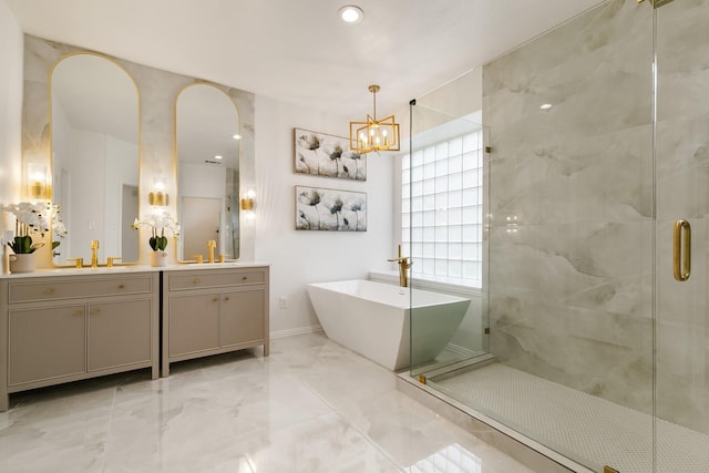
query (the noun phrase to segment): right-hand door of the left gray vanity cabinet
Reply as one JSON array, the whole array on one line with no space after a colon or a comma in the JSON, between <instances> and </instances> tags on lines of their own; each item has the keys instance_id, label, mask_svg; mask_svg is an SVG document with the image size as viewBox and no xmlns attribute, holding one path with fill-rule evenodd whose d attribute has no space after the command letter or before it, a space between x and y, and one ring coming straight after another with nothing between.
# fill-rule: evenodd
<instances>
[{"instance_id":1,"label":"right-hand door of the left gray vanity cabinet","mask_svg":"<svg viewBox=\"0 0 709 473\"><path fill-rule=\"evenodd\" d=\"M151 300L89 305L89 371L151 361Z\"/></svg>"}]
</instances>

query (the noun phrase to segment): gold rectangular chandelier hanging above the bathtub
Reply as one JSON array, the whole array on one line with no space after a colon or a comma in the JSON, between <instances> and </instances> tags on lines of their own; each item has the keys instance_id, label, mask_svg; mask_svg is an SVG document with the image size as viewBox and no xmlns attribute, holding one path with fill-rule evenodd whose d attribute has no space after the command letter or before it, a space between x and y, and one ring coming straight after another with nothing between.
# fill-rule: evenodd
<instances>
[{"instance_id":1,"label":"gold rectangular chandelier hanging above the bathtub","mask_svg":"<svg viewBox=\"0 0 709 473\"><path fill-rule=\"evenodd\" d=\"M374 112L366 122L350 122L350 150L359 154L380 151L399 151L399 124L394 115L377 120L377 92L379 85L370 85Z\"/></svg>"}]
</instances>

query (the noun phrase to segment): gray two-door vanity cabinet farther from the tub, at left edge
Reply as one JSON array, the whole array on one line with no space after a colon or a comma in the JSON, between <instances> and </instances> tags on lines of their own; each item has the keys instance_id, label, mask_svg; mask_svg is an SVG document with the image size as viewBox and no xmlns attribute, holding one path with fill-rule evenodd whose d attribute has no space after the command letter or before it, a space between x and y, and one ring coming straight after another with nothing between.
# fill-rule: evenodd
<instances>
[{"instance_id":1,"label":"gray two-door vanity cabinet farther from the tub, at left edge","mask_svg":"<svg viewBox=\"0 0 709 473\"><path fill-rule=\"evenodd\" d=\"M156 379L158 285L133 270L1 278L0 411L28 389L140 368Z\"/></svg>"}]
</instances>

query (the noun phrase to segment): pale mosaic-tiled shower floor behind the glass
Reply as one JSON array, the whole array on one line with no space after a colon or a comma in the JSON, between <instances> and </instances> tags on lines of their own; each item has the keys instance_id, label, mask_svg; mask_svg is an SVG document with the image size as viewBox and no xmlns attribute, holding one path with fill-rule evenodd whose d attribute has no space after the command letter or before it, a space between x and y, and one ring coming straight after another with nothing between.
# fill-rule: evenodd
<instances>
[{"instance_id":1,"label":"pale mosaic-tiled shower floor behind the glass","mask_svg":"<svg viewBox=\"0 0 709 473\"><path fill-rule=\"evenodd\" d=\"M653 471L653 418L501 363L429 385L557 452L603 471ZM657 472L709 472L709 435L658 420Z\"/></svg>"}]
</instances>

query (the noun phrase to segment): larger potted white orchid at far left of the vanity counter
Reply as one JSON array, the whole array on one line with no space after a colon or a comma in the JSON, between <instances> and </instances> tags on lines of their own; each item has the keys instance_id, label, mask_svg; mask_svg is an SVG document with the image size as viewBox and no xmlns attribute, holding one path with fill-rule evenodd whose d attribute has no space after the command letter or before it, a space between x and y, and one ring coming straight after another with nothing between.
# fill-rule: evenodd
<instances>
[{"instance_id":1,"label":"larger potted white orchid at far left of the vanity counter","mask_svg":"<svg viewBox=\"0 0 709 473\"><path fill-rule=\"evenodd\" d=\"M14 253L10 256L10 271L31 273L34 270L34 251L44 246L44 241L34 241L32 235L44 238L50 229L56 237L66 235L59 206L51 202L21 202L6 205L3 209L14 215L14 237L8 241ZM52 249L59 244L59 238L54 238Z\"/></svg>"}]
</instances>

